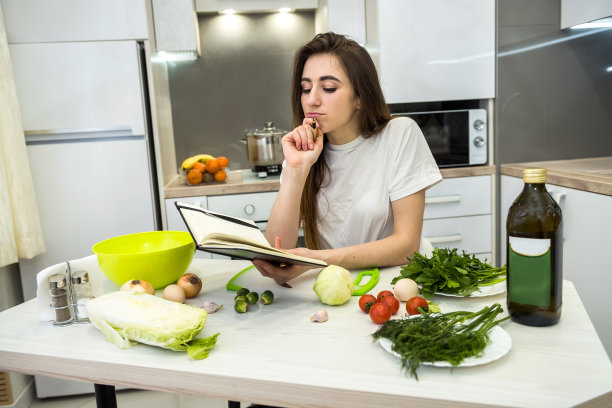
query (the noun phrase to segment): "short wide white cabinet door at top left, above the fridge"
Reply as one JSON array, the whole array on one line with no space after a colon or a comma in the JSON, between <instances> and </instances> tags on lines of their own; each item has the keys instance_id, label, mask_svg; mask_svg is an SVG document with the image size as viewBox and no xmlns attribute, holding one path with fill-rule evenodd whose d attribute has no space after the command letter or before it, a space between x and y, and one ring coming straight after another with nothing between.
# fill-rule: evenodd
<instances>
[{"instance_id":1,"label":"short wide white cabinet door at top left, above the fridge","mask_svg":"<svg viewBox=\"0 0 612 408\"><path fill-rule=\"evenodd\" d=\"M145 0L2 0L9 44L148 38Z\"/></svg>"}]
</instances>

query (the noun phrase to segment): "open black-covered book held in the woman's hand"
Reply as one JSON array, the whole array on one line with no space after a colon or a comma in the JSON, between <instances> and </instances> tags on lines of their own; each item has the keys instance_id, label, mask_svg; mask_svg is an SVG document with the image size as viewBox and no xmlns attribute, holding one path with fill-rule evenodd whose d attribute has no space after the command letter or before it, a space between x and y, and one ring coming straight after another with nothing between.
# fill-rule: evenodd
<instances>
[{"instance_id":1,"label":"open black-covered book held in the woman's hand","mask_svg":"<svg viewBox=\"0 0 612 408\"><path fill-rule=\"evenodd\" d=\"M240 259L261 259L276 264L327 266L324 261L273 248L251 220L219 214L185 203L174 204L185 221L196 248L201 251Z\"/></svg>"}]
</instances>

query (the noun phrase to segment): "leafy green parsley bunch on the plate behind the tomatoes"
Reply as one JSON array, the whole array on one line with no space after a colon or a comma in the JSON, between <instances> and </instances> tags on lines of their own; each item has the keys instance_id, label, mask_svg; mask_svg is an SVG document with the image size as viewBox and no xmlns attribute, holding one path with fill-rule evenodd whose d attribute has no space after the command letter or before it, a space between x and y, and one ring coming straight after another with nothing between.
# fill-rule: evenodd
<instances>
[{"instance_id":1,"label":"leafy green parsley bunch on the plate behind the tomatoes","mask_svg":"<svg viewBox=\"0 0 612 408\"><path fill-rule=\"evenodd\" d=\"M431 258L415 252L402 266L401 275L393 278L392 284L402 278L414 280L419 293L430 298L436 292L469 296L479 291L480 286L493 285L506 279L506 266L495 268L474 255L457 253L457 249L434 248Z\"/></svg>"}]
</instances>

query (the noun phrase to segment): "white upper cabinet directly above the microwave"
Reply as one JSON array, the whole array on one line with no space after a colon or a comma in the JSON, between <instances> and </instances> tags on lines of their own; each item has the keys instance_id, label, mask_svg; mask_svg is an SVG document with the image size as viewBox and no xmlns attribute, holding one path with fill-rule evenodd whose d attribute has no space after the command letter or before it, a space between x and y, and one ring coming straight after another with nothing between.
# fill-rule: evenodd
<instances>
[{"instance_id":1,"label":"white upper cabinet directly above the microwave","mask_svg":"<svg viewBox=\"0 0 612 408\"><path fill-rule=\"evenodd\" d=\"M366 2L387 103L495 97L494 0Z\"/></svg>"}]
</instances>

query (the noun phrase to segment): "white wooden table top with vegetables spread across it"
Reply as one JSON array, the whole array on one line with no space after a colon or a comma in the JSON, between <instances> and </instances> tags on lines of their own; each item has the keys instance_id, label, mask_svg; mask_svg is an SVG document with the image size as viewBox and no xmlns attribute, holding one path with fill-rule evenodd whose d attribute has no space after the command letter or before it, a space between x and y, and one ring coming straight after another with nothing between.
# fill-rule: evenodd
<instances>
[{"instance_id":1,"label":"white wooden table top with vegetables spread across it","mask_svg":"<svg viewBox=\"0 0 612 408\"><path fill-rule=\"evenodd\" d=\"M203 329L205 336L221 333L205 360L140 344L122 350L90 324L54 327L39 321L32 300L0 313L0 370L287 407L612 406L612 364L571 282L564 282L559 324L503 322L513 341L506 356L454 370L423 366L416 381L372 343L378 326L359 309L358 297L342 306L319 302L312 291L316 270L292 281L292 289L246 272L235 283L259 293L271 289L275 301L236 313L235 292L225 284L248 265L196 259L189 269L204 281L198 299L225 305ZM375 292L390 289L398 271L381 270ZM505 294L433 300L443 312L494 302L505 308ZM310 322L322 308L329 321Z\"/></svg>"}]
</instances>

